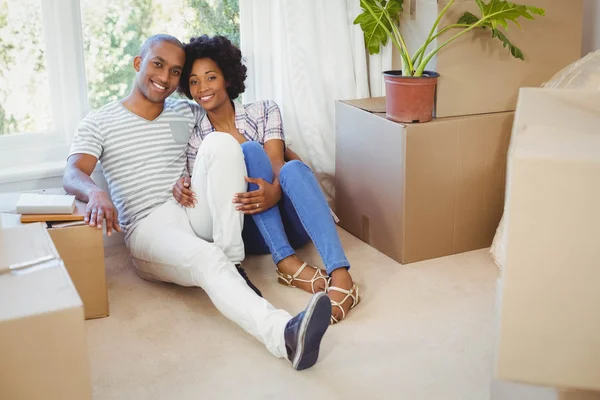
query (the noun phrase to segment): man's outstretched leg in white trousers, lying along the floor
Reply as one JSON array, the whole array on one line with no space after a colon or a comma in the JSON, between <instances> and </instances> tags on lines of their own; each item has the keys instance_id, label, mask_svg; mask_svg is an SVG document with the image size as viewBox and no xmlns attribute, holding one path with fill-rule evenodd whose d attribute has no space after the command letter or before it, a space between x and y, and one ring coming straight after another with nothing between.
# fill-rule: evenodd
<instances>
[{"instance_id":1,"label":"man's outstretched leg in white trousers, lying along the floor","mask_svg":"<svg viewBox=\"0 0 600 400\"><path fill-rule=\"evenodd\" d=\"M197 237L174 202L142 220L127 245L142 277L203 288L225 317L276 357L286 356L283 333L291 315L258 297L220 248Z\"/></svg>"}]
</instances>

